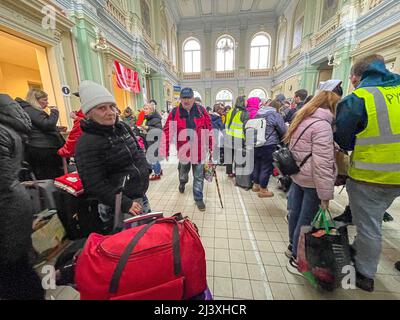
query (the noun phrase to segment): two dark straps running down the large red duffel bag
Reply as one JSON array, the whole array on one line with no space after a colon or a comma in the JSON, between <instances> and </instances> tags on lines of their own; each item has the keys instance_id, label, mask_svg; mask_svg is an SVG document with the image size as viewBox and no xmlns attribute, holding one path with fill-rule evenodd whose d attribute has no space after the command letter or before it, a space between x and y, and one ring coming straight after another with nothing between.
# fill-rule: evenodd
<instances>
[{"instance_id":1,"label":"two dark straps running down the large red duffel bag","mask_svg":"<svg viewBox=\"0 0 400 320\"><path fill-rule=\"evenodd\" d=\"M131 242L125 248L121 258L118 261L118 264L114 270L113 276L111 278L109 293L115 294L119 288L119 282L121 280L122 272L125 269L125 266L129 260L129 256L134 251L135 246L138 244L140 239L145 235L145 233L156 223L159 223L157 220L149 223L145 227L143 227L131 240ZM173 240L172 240L172 250L173 250L173 258L174 258L174 273L176 276L179 276L182 273L182 259L180 253L180 236L178 223L174 219L174 227L173 227Z\"/></svg>"}]
</instances>

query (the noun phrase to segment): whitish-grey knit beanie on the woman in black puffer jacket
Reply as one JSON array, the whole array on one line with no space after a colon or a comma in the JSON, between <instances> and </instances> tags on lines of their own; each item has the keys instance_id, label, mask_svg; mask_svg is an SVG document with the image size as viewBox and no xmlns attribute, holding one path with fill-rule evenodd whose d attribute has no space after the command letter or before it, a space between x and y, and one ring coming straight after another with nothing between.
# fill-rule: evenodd
<instances>
[{"instance_id":1,"label":"whitish-grey knit beanie on the woman in black puffer jacket","mask_svg":"<svg viewBox=\"0 0 400 320\"><path fill-rule=\"evenodd\" d=\"M117 104L110 91L93 81L83 81L79 85L79 96L84 114L103 103Z\"/></svg>"}]
</instances>

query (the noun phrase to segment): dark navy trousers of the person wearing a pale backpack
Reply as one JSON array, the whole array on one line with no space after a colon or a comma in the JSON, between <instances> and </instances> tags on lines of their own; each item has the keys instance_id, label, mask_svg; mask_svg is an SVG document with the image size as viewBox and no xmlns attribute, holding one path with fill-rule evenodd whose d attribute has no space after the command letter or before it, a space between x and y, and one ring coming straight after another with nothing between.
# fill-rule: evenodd
<instances>
[{"instance_id":1,"label":"dark navy trousers of the person wearing a pale backpack","mask_svg":"<svg viewBox=\"0 0 400 320\"><path fill-rule=\"evenodd\" d=\"M276 151L276 145L263 146L254 150L253 180L261 188L268 187L269 178L274 170L272 153Z\"/></svg>"}]
</instances>

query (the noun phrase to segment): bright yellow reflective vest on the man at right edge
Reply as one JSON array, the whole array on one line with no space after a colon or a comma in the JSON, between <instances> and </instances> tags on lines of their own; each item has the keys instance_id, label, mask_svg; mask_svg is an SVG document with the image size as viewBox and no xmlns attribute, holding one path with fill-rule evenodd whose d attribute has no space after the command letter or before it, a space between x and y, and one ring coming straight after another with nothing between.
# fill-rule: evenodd
<instances>
[{"instance_id":1,"label":"bright yellow reflective vest on the man at right edge","mask_svg":"<svg viewBox=\"0 0 400 320\"><path fill-rule=\"evenodd\" d=\"M354 180L400 186L400 86L360 88L368 124L356 136L349 176Z\"/></svg>"}]
</instances>

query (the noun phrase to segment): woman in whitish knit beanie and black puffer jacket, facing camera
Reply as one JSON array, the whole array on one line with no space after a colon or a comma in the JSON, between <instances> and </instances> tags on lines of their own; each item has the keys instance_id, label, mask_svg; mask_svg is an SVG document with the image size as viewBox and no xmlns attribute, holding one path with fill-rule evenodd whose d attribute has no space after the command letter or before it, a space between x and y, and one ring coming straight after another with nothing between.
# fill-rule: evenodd
<instances>
[{"instance_id":1,"label":"woman in whitish knit beanie and black puffer jacket, facing camera","mask_svg":"<svg viewBox=\"0 0 400 320\"><path fill-rule=\"evenodd\" d=\"M151 168L131 128L119 121L114 97L92 81L82 82L79 94L86 119L81 121L83 134L76 148L76 164L86 194L103 205L103 222L112 223L115 195L128 176L122 212L149 212L146 192Z\"/></svg>"}]
</instances>

